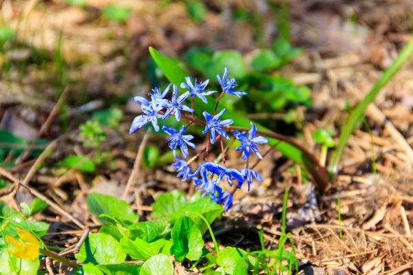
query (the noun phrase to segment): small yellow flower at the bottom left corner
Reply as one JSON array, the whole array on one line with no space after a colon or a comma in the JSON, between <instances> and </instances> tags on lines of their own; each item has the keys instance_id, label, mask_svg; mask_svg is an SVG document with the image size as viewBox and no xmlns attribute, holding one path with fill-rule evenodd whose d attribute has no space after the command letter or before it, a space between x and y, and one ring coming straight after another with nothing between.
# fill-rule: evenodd
<instances>
[{"instance_id":1,"label":"small yellow flower at the bottom left corner","mask_svg":"<svg viewBox=\"0 0 413 275\"><path fill-rule=\"evenodd\" d=\"M36 236L19 228L17 228L17 234L20 238L19 242L12 236L6 236L6 240L14 248L14 251L8 249L8 252L20 259L31 259L32 261L36 260L39 256L40 248L39 241L37 241Z\"/></svg>"}]
</instances>

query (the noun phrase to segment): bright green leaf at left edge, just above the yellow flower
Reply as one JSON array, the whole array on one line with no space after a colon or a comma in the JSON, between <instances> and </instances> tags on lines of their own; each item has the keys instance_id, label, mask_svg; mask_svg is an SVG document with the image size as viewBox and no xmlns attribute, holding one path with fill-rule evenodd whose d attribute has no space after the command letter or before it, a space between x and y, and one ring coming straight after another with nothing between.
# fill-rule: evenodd
<instances>
[{"instance_id":1,"label":"bright green leaf at left edge, just above the yellow flower","mask_svg":"<svg viewBox=\"0 0 413 275\"><path fill-rule=\"evenodd\" d=\"M49 225L42 221L28 221L17 210L8 206L4 201L0 201L0 224L5 235L17 236L17 228L32 232L39 238L44 236L49 229Z\"/></svg>"}]
</instances>

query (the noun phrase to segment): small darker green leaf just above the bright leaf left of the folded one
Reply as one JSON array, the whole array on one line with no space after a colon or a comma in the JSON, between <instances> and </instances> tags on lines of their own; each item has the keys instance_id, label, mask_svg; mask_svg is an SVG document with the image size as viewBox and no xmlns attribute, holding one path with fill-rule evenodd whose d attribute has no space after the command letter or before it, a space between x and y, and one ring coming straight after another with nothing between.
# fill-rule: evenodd
<instances>
[{"instance_id":1,"label":"small darker green leaf just above the bright leaf left of the folded one","mask_svg":"<svg viewBox=\"0 0 413 275\"><path fill-rule=\"evenodd\" d=\"M171 224L170 219L156 219L153 221L143 221L129 226L131 234L144 241L153 241L165 232Z\"/></svg>"}]
</instances>

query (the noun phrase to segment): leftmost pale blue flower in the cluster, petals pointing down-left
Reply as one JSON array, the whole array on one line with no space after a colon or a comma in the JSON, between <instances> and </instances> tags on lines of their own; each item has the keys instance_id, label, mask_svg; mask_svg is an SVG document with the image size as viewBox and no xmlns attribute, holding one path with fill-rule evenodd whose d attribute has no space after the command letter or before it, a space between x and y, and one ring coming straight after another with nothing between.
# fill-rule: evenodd
<instances>
[{"instance_id":1,"label":"leftmost pale blue flower in the cluster, petals pointing down-left","mask_svg":"<svg viewBox=\"0 0 413 275\"><path fill-rule=\"evenodd\" d=\"M139 102L138 102L139 103ZM129 133L135 133L140 128L145 126L148 122L151 122L153 125L153 129L155 131L159 131L158 126L158 118L162 118L158 112L163 109L162 105L158 105L156 101L152 100L151 102L145 102L143 100L140 104L142 108L142 115L138 115L131 124L131 128L129 129Z\"/></svg>"}]
</instances>

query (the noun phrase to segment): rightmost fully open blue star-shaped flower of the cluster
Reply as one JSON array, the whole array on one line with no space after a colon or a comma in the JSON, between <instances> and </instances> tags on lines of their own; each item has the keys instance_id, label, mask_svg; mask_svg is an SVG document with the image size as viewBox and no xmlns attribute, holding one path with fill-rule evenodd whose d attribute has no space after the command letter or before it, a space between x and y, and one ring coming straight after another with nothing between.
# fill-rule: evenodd
<instances>
[{"instance_id":1,"label":"rightmost fully open blue star-shaped flower of the cluster","mask_svg":"<svg viewBox=\"0 0 413 275\"><path fill-rule=\"evenodd\" d=\"M234 135L237 140L240 140L241 145L239 148L236 148L238 152L242 151L242 159L246 159L251 155L251 150L257 154L260 159L262 159L262 155L258 151L257 145L255 144L264 144L267 143L268 140L265 137L258 136L255 137L255 133L257 133L257 127L251 122L251 130L248 131L248 137L246 137L245 133L241 133L239 131L235 131Z\"/></svg>"}]
</instances>

